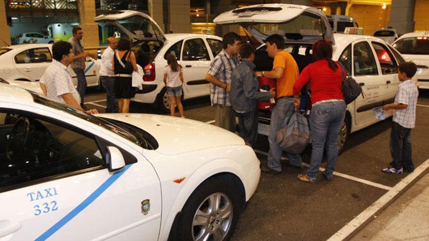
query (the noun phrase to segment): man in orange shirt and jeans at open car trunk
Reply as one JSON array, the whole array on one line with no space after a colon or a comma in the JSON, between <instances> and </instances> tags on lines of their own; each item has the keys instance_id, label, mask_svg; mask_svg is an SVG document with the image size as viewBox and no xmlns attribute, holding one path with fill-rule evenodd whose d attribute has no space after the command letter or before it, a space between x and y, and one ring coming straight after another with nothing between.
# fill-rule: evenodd
<instances>
[{"instance_id":1,"label":"man in orange shirt and jeans at open car trunk","mask_svg":"<svg viewBox=\"0 0 429 241\"><path fill-rule=\"evenodd\" d=\"M280 35L271 35L265 40L268 56L274 58L273 70L256 72L257 76L265 76L277 79L276 103L271 112L270 132L268 141L270 151L268 153L268 167L262 166L261 171L265 173L280 174L282 149L277 144L277 132L284 128L294 111L293 84L298 79L299 70L295 59L287 51L285 40ZM289 164L301 168L301 156L288 153Z\"/></svg>"}]
</instances>

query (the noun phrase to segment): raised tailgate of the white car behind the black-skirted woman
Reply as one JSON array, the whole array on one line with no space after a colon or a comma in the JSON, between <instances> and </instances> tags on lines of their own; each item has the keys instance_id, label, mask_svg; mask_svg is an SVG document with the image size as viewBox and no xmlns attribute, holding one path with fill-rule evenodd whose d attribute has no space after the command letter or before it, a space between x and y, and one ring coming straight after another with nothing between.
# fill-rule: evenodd
<instances>
[{"instance_id":1,"label":"raised tailgate of the white car behind the black-skirted woman","mask_svg":"<svg viewBox=\"0 0 429 241\"><path fill-rule=\"evenodd\" d=\"M131 10L113 11L94 18L101 27L112 24L136 40L165 40L158 24L147 14Z\"/></svg>"}]
</instances>

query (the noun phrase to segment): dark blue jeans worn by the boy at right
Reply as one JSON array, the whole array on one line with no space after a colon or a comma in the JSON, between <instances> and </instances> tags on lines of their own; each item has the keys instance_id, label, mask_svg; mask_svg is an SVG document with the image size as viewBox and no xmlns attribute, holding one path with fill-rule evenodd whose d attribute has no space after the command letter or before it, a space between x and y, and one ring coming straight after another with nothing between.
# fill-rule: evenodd
<instances>
[{"instance_id":1,"label":"dark blue jeans worn by the boy at right","mask_svg":"<svg viewBox=\"0 0 429 241\"><path fill-rule=\"evenodd\" d=\"M405 171L413 171L414 164L411 158L411 129L392 122L390 132L390 166L396 169L404 167Z\"/></svg>"}]
</instances>

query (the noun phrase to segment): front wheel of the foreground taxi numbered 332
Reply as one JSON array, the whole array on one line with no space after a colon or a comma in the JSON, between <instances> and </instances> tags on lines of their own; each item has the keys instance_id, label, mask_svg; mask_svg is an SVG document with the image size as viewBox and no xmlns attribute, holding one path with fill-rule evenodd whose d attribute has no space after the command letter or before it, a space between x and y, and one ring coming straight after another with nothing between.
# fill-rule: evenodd
<instances>
[{"instance_id":1,"label":"front wheel of the foreground taxi numbered 332","mask_svg":"<svg viewBox=\"0 0 429 241\"><path fill-rule=\"evenodd\" d=\"M210 178L195 189L182 209L176 240L227 241L231 238L243 199L237 192L240 184L228 176Z\"/></svg>"}]
</instances>

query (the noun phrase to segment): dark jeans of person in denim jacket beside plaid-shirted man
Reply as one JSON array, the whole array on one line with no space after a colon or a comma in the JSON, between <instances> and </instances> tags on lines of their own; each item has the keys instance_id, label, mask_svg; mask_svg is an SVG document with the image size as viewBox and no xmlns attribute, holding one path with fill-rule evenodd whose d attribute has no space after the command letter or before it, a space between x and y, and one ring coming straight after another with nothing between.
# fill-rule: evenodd
<instances>
[{"instance_id":1,"label":"dark jeans of person in denim jacket beside plaid-shirted man","mask_svg":"<svg viewBox=\"0 0 429 241\"><path fill-rule=\"evenodd\" d=\"M236 116L238 117L238 135L252 148L255 148L258 138L258 112L256 110L244 113L237 112Z\"/></svg>"}]
</instances>

